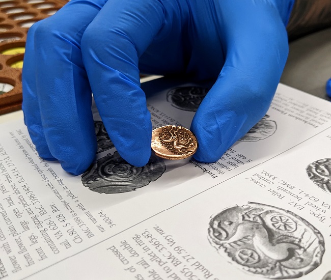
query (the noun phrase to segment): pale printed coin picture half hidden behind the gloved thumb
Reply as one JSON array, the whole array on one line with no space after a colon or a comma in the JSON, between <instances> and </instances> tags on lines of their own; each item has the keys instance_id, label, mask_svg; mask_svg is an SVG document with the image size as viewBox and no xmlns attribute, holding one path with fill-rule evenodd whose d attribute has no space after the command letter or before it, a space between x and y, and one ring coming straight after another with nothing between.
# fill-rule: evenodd
<instances>
[{"instance_id":1,"label":"pale printed coin picture half hidden behind the gloved thumb","mask_svg":"<svg viewBox=\"0 0 331 280\"><path fill-rule=\"evenodd\" d=\"M241 139L242 142L256 142L271 136L277 130L275 121L268 120L269 116L265 115L249 132Z\"/></svg>"}]
</instances>

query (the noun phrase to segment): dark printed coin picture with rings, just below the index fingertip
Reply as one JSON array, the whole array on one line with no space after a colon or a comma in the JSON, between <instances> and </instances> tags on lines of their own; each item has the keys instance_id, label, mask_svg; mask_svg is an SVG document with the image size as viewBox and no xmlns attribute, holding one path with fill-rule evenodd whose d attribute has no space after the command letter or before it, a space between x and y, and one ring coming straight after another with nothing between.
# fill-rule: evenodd
<instances>
[{"instance_id":1,"label":"dark printed coin picture with rings, just below the index fingertip","mask_svg":"<svg viewBox=\"0 0 331 280\"><path fill-rule=\"evenodd\" d=\"M81 176L81 182L99 193L120 193L136 190L157 180L166 171L163 160L152 155L143 167L127 163L117 151L100 158Z\"/></svg>"}]
</instances>

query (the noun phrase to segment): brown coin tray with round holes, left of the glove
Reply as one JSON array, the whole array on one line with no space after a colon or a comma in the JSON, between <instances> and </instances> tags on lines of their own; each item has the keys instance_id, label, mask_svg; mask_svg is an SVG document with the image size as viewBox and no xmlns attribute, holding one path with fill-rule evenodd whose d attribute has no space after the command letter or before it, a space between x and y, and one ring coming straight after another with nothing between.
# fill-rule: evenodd
<instances>
[{"instance_id":1,"label":"brown coin tray with round holes, left of the glove","mask_svg":"<svg viewBox=\"0 0 331 280\"><path fill-rule=\"evenodd\" d=\"M0 115L21 109L21 65L27 30L66 3L67 0L0 0Z\"/></svg>"}]
</instances>

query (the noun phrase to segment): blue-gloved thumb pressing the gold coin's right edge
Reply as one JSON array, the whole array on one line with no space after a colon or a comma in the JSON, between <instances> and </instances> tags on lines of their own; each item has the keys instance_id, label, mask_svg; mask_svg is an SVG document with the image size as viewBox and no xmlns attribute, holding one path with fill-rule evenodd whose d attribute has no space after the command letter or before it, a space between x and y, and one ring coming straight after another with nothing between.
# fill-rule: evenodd
<instances>
[{"instance_id":1,"label":"blue-gloved thumb pressing the gold coin's right edge","mask_svg":"<svg viewBox=\"0 0 331 280\"><path fill-rule=\"evenodd\" d=\"M265 115L288 54L284 23L270 1L225 0L217 9L226 61L191 124L201 162L218 160Z\"/></svg>"}]
</instances>

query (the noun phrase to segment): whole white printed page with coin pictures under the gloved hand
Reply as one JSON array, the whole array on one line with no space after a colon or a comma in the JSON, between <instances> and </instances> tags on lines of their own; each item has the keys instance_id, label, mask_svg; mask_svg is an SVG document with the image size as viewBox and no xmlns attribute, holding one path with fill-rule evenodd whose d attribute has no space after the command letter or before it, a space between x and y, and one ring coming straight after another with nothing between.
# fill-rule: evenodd
<instances>
[{"instance_id":1,"label":"whole white printed page with coin pictures under the gloved hand","mask_svg":"<svg viewBox=\"0 0 331 280\"><path fill-rule=\"evenodd\" d=\"M189 128L210 85L142 84L154 127ZM331 103L279 85L267 115L215 163L127 164L94 109L81 176L0 126L0 279L329 279Z\"/></svg>"}]
</instances>

